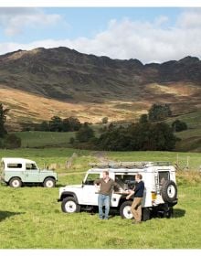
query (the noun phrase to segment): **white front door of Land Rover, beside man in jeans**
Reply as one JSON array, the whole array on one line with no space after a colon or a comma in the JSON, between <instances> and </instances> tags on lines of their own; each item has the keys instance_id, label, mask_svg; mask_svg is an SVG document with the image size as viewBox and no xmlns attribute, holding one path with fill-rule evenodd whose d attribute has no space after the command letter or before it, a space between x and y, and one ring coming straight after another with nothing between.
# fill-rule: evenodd
<instances>
[{"instance_id":1,"label":"white front door of Land Rover, beside man in jeans","mask_svg":"<svg viewBox=\"0 0 201 256\"><path fill-rule=\"evenodd\" d=\"M82 203L85 205L98 205L98 189L94 181L100 178L100 174L89 174L82 187Z\"/></svg>"}]
</instances>

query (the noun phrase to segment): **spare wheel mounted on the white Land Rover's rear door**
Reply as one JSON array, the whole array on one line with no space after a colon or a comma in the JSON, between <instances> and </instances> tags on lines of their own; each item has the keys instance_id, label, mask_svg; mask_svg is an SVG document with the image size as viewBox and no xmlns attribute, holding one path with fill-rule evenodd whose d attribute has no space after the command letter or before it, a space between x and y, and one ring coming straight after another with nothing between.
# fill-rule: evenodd
<instances>
[{"instance_id":1,"label":"spare wheel mounted on the white Land Rover's rear door","mask_svg":"<svg viewBox=\"0 0 201 256\"><path fill-rule=\"evenodd\" d=\"M177 197L177 187L173 180L166 180L161 188L161 195L165 203L172 203Z\"/></svg>"}]
</instances>

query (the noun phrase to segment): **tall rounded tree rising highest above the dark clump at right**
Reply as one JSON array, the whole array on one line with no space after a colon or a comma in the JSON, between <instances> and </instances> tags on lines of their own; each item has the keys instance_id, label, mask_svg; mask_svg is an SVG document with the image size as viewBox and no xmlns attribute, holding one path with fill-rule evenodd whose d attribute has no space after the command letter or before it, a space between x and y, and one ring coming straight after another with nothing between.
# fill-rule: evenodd
<instances>
[{"instance_id":1,"label":"tall rounded tree rising highest above the dark clump at right","mask_svg":"<svg viewBox=\"0 0 201 256\"><path fill-rule=\"evenodd\" d=\"M172 115L169 104L153 104L149 110L149 121L158 122L163 121L168 116Z\"/></svg>"}]
</instances>

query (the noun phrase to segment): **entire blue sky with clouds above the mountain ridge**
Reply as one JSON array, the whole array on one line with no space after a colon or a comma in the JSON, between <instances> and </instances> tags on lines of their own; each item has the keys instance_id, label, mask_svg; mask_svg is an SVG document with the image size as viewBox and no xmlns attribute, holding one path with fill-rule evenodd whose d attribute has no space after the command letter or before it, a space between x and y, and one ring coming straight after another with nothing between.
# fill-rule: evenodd
<instances>
[{"instance_id":1,"label":"entire blue sky with clouds above the mountain ridge","mask_svg":"<svg viewBox=\"0 0 201 256\"><path fill-rule=\"evenodd\" d=\"M0 7L0 55L74 48L111 59L201 59L201 7Z\"/></svg>"}]
</instances>

